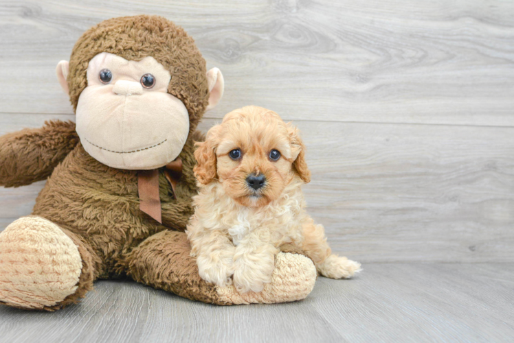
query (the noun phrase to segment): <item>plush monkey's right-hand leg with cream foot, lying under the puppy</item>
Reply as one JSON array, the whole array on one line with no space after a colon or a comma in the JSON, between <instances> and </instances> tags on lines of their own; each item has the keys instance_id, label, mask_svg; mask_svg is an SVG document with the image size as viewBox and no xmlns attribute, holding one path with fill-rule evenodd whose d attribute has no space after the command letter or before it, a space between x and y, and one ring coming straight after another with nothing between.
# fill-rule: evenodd
<instances>
[{"instance_id":1,"label":"plush monkey's right-hand leg with cream foot, lying under the puppy","mask_svg":"<svg viewBox=\"0 0 514 343\"><path fill-rule=\"evenodd\" d=\"M316 280L311 259L297 251L279 252L271 282L262 292L239 294L233 285L219 287L203 281L190 250L186 233L162 231L134 248L126 260L127 273L140 283L217 305L301 300L309 295Z\"/></svg>"}]
</instances>

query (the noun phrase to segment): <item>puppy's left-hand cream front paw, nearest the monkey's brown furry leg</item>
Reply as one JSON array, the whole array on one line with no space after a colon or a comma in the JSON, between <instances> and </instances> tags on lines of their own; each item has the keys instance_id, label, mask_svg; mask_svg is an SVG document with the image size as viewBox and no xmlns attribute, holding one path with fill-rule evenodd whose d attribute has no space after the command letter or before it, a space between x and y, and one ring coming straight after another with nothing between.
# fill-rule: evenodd
<instances>
[{"instance_id":1,"label":"puppy's left-hand cream front paw, nearest the monkey's brown furry leg","mask_svg":"<svg viewBox=\"0 0 514 343\"><path fill-rule=\"evenodd\" d=\"M198 274L203 280L220 287L232 285L230 276L234 274L234 259L231 255L217 258L199 256L197 265Z\"/></svg>"}]
</instances>

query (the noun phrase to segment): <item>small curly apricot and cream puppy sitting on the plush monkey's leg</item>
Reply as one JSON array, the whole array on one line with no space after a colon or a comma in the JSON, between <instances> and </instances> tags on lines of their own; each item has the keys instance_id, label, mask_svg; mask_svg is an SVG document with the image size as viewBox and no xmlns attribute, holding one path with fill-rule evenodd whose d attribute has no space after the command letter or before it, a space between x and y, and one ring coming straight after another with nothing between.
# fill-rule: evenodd
<instances>
[{"instance_id":1,"label":"small curly apricot and cream puppy sitting on the plush monkey's leg","mask_svg":"<svg viewBox=\"0 0 514 343\"><path fill-rule=\"evenodd\" d=\"M228 113L194 157L200 189L186 232L202 279L222 287L233 279L238 292L260 292L287 243L302 248L323 276L359 272L359 263L331 253L323 226L306 213L305 148L298 129L276 113L256 106Z\"/></svg>"}]
</instances>

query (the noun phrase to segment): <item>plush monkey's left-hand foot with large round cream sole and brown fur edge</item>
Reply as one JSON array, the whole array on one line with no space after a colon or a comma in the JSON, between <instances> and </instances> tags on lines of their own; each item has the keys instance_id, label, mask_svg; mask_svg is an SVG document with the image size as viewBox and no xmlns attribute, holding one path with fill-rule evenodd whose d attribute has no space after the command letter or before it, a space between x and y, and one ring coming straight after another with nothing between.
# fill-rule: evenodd
<instances>
[{"instance_id":1,"label":"plush monkey's left-hand foot with large round cream sole and brown fur edge","mask_svg":"<svg viewBox=\"0 0 514 343\"><path fill-rule=\"evenodd\" d=\"M0 233L0 303L55 311L93 286L98 257L89 244L42 217L22 217Z\"/></svg>"}]
</instances>

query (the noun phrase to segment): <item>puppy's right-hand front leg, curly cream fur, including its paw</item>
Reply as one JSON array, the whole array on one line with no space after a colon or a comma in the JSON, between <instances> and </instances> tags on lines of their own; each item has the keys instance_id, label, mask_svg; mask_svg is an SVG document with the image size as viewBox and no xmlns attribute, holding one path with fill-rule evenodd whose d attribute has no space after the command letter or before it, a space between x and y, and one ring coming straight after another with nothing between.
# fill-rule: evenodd
<instances>
[{"instance_id":1,"label":"puppy's right-hand front leg, curly cream fur, including its paw","mask_svg":"<svg viewBox=\"0 0 514 343\"><path fill-rule=\"evenodd\" d=\"M234 286L240 293L260 292L271 281L278 249L249 235L236 247Z\"/></svg>"}]
</instances>

